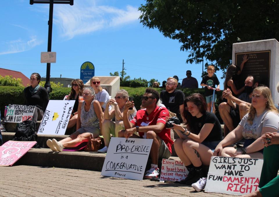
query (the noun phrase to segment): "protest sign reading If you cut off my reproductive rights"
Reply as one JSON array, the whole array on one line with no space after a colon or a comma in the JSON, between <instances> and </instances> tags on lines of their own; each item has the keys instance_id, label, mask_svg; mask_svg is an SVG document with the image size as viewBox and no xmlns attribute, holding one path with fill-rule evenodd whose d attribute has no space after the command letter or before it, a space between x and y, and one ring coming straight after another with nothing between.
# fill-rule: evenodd
<instances>
[{"instance_id":1,"label":"protest sign reading If you cut off my reproductive rights","mask_svg":"<svg viewBox=\"0 0 279 197\"><path fill-rule=\"evenodd\" d=\"M36 106L28 105L9 105L5 115L5 122L20 123L27 120L29 117L33 118Z\"/></svg>"}]
</instances>

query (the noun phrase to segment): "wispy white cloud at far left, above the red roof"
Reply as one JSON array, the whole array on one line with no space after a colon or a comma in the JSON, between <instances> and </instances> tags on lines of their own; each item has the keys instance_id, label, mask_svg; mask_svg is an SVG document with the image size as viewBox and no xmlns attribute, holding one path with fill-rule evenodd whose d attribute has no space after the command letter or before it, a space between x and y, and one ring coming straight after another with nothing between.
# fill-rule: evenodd
<instances>
[{"instance_id":1,"label":"wispy white cloud at far left, above the red roof","mask_svg":"<svg viewBox=\"0 0 279 197\"><path fill-rule=\"evenodd\" d=\"M28 51L41 43L42 41L37 40L36 36L31 36L30 40L11 40L4 43L3 48L6 48L7 50L0 51L0 55Z\"/></svg>"}]
</instances>

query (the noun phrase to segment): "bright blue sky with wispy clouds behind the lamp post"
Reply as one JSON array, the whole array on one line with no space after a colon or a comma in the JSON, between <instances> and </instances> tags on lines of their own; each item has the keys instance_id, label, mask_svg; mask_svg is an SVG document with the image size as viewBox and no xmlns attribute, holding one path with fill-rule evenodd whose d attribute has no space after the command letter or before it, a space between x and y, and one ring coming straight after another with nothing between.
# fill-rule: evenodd
<instances>
[{"instance_id":1,"label":"bright blue sky with wispy clouds behind the lamp post","mask_svg":"<svg viewBox=\"0 0 279 197\"><path fill-rule=\"evenodd\" d=\"M202 64L186 64L187 52L177 40L164 37L158 29L143 27L138 17L142 0L74 0L74 6L55 4L53 8L51 77L80 78L80 67L90 61L95 76L125 71L131 78L158 79L160 83L177 75L179 82L192 70L201 82ZM40 63L47 51L48 4L29 0L1 2L0 68L46 75ZM217 72L223 89L221 71Z\"/></svg>"}]
</instances>

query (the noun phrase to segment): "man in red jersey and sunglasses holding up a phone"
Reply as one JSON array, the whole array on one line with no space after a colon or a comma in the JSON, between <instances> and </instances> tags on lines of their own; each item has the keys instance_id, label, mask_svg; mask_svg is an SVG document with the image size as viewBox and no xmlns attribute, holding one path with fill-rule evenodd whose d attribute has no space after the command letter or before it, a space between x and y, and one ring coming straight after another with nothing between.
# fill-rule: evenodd
<instances>
[{"instance_id":1,"label":"man in red jersey and sunglasses holding up a phone","mask_svg":"<svg viewBox=\"0 0 279 197\"><path fill-rule=\"evenodd\" d=\"M144 177L158 177L158 159L168 159L171 156L171 145L174 143L170 137L170 129L165 128L166 117L169 111L158 107L159 93L153 88L147 88L142 96L142 110L137 111L133 120L128 120L128 109L134 106L133 102L127 102L123 111L123 123L125 130L119 131L118 137L153 139L149 156L151 157L151 169L146 171ZM139 132L140 136L135 135Z\"/></svg>"}]
</instances>

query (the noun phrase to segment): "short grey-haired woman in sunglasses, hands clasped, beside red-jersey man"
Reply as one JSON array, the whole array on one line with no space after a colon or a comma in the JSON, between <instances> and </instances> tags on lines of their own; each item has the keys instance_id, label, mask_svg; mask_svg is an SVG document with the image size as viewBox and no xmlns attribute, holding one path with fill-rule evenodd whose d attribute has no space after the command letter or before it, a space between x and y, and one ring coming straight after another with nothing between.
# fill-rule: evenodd
<instances>
[{"instance_id":1,"label":"short grey-haired woman in sunglasses, hands clasped, beside red-jersey man","mask_svg":"<svg viewBox=\"0 0 279 197\"><path fill-rule=\"evenodd\" d=\"M114 99L110 99L106 104L104 112L104 122L103 122L103 137L105 142L105 147L98 150L99 153L106 153L108 151L108 146L110 144L110 134L114 137L118 137L118 132L124 129L123 124L123 110L125 103L129 99L128 92L124 89L116 92ZM112 105L112 109L109 111L109 105ZM135 106L128 110L128 119L131 121L136 115L137 110ZM115 117L115 122L111 121Z\"/></svg>"}]
</instances>

